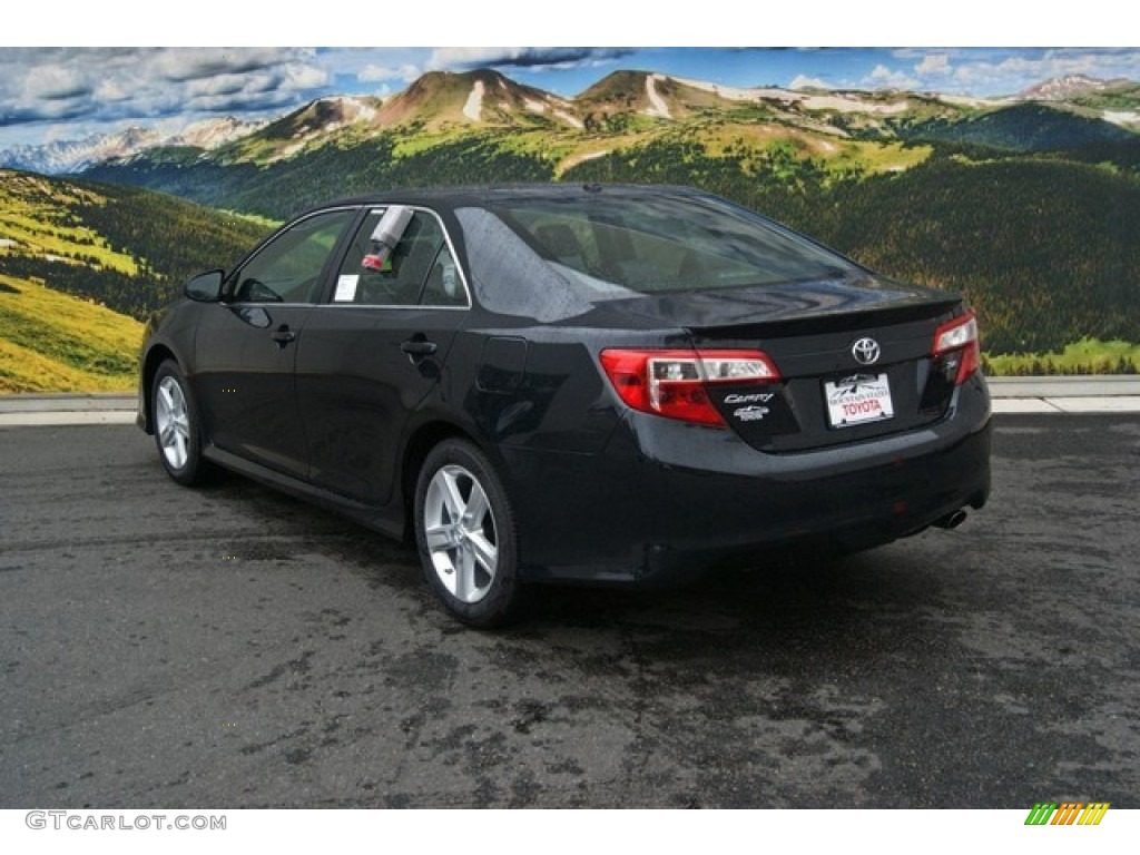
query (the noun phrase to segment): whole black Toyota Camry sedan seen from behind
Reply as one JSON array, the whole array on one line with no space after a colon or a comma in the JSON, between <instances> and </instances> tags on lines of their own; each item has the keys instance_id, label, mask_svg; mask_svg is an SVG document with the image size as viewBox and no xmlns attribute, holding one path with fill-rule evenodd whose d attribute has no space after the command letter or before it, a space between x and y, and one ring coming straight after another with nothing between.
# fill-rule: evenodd
<instances>
[{"instance_id":1,"label":"whole black Toyota Camry sedan seen from behind","mask_svg":"<svg viewBox=\"0 0 1140 855\"><path fill-rule=\"evenodd\" d=\"M990 491L958 295L684 188L392 192L187 283L139 424L414 538L477 626L528 583L662 584L953 527Z\"/></svg>"}]
</instances>

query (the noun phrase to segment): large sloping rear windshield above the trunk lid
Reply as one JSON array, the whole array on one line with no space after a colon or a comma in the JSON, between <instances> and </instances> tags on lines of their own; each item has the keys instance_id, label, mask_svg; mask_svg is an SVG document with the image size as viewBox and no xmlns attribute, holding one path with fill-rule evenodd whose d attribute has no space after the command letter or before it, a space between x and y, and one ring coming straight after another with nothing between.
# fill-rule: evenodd
<instances>
[{"instance_id":1,"label":"large sloping rear windshield above the trunk lid","mask_svg":"<svg viewBox=\"0 0 1140 855\"><path fill-rule=\"evenodd\" d=\"M598 193L489 205L592 299L840 278L850 262L725 202Z\"/></svg>"}]
</instances>

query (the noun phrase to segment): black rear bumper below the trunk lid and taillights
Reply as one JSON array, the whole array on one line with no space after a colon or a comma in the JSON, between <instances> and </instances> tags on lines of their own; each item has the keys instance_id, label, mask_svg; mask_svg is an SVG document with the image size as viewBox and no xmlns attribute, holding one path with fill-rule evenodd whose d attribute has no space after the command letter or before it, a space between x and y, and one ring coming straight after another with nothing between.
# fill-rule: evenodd
<instances>
[{"instance_id":1,"label":"black rear bumper below the trunk lid and taillights","mask_svg":"<svg viewBox=\"0 0 1140 855\"><path fill-rule=\"evenodd\" d=\"M626 414L605 454L508 451L529 580L662 585L788 545L857 549L915 534L990 494L980 376L921 430L793 454L724 430Z\"/></svg>"}]
</instances>

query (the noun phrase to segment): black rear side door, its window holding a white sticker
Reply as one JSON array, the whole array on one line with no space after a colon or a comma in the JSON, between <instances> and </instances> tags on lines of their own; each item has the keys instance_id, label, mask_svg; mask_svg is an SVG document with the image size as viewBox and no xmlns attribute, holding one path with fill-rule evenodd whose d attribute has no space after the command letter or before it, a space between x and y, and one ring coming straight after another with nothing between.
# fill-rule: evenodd
<instances>
[{"instance_id":1,"label":"black rear side door, its window holding a white sticker","mask_svg":"<svg viewBox=\"0 0 1140 855\"><path fill-rule=\"evenodd\" d=\"M314 483L369 505L389 500L405 425L437 390L469 308L438 214L407 206L367 212L298 349Z\"/></svg>"}]
</instances>

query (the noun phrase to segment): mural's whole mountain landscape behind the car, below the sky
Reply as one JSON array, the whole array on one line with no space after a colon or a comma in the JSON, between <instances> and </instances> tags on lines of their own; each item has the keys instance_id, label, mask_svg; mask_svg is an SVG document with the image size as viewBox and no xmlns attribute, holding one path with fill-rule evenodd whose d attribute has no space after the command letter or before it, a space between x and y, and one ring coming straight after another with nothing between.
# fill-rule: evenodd
<instances>
[{"instance_id":1,"label":"mural's whole mountain landscape behind the car, below the sky","mask_svg":"<svg viewBox=\"0 0 1140 855\"><path fill-rule=\"evenodd\" d=\"M964 292L992 370L1140 361L1140 84L1127 80L984 99L617 71L571 98L498 71L431 72L384 98L23 146L0 166L0 391L66 385L17 370L32 356L103 365L38 344L58 331L34 317L55 311L32 307L35 288L142 319L182 278L317 202L515 181L718 193L881 272ZM106 364L125 377L132 357Z\"/></svg>"}]
</instances>

